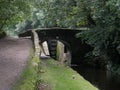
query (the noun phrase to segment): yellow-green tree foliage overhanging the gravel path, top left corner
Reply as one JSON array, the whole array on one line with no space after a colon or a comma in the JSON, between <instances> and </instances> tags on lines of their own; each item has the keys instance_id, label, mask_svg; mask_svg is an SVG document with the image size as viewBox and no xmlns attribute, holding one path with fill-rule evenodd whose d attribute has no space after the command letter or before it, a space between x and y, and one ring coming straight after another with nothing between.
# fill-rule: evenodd
<instances>
[{"instance_id":1,"label":"yellow-green tree foliage overhanging the gravel path, top left corner","mask_svg":"<svg viewBox=\"0 0 120 90\"><path fill-rule=\"evenodd\" d=\"M0 0L0 30L28 18L33 0Z\"/></svg>"}]
</instances>

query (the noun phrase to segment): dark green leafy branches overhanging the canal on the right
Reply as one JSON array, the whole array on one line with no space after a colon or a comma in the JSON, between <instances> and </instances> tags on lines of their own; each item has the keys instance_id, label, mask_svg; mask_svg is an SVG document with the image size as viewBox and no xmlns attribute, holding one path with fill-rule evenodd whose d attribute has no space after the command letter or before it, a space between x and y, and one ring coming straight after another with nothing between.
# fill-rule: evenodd
<instances>
[{"instance_id":1,"label":"dark green leafy branches overhanging the canal on the right","mask_svg":"<svg viewBox=\"0 0 120 90\"><path fill-rule=\"evenodd\" d=\"M107 54L112 57L111 59L118 60L120 58L117 51L120 45L120 1L95 0L88 7L91 7L90 14L96 24L91 30L77 36L94 47L93 55Z\"/></svg>"}]
</instances>

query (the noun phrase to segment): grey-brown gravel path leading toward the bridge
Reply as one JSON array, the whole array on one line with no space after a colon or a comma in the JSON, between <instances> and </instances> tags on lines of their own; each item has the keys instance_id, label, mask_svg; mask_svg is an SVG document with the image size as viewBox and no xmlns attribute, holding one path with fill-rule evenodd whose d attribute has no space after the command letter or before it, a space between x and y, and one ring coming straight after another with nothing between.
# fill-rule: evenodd
<instances>
[{"instance_id":1,"label":"grey-brown gravel path leading toward the bridge","mask_svg":"<svg viewBox=\"0 0 120 90\"><path fill-rule=\"evenodd\" d=\"M0 90L11 90L29 60L31 48L29 39L0 40Z\"/></svg>"}]
</instances>

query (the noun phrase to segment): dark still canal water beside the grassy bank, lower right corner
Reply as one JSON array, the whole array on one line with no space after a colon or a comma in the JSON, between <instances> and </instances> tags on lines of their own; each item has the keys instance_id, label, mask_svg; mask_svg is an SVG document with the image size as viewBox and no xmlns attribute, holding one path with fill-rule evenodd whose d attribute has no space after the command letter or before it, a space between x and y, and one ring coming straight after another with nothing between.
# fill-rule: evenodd
<instances>
[{"instance_id":1,"label":"dark still canal water beside the grassy bank, lower right corner","mask_svg":"<svg viewBox=\"0 0 120 90\"><path fill-rule=\"evenodd\" d=\"M110 71L86 67L83 65L72 66L80 75L91 82L99 90L120 90L120 76Z\"/></svg>"}]
</instances>

